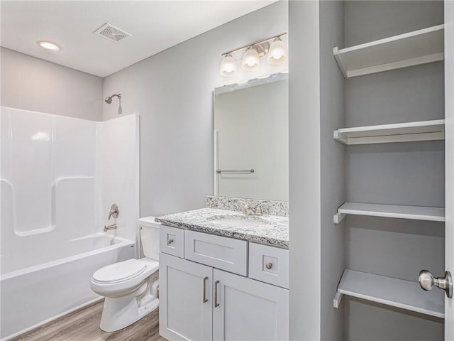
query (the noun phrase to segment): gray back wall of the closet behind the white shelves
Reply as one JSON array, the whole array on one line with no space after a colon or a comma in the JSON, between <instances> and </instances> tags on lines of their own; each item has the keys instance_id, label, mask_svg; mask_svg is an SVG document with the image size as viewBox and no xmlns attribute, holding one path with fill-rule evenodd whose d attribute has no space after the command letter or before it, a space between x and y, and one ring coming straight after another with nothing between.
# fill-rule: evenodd
<instances>
[{"instance_id":1,"label":"gray back wall of the closet behind the white shelves","mask_svg":"<svg viewBox=\"0 0 454 341\"><path fill-rule=\"evenodd\" d=\"M346 1L345 46L443 23L443 1ZM344 47L344 46L341 46ZM444 117L443 63L345 80L345 126ZM444 143L348 146L346 200L444 207ZM346 218L345 267L416 281L444 271L438 222ZM345 300L345 340L443 340L443 320ZM384 327L386 326L386 327Z\"/></svg>"}]
</instances>

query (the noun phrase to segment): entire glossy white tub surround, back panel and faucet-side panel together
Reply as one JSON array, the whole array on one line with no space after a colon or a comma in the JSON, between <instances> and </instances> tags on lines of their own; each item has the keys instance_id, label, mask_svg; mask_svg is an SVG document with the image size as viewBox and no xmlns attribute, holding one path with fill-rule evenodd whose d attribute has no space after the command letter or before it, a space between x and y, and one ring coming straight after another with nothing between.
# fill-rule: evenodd
<instances>
[{"instance_id":1,"label":"entire glossy white tub surround, back panel and faucet-side panel together","mask_svg":"<svg viewBox=\"0 0 454 341\"><path fill-rule=\"evenodd\" d=\"M96 122L1 107L1 271L70 256L102 233L135 240L138 114ZM120 206L107 220L110 205Z\"/></svg>"}]
</instances>

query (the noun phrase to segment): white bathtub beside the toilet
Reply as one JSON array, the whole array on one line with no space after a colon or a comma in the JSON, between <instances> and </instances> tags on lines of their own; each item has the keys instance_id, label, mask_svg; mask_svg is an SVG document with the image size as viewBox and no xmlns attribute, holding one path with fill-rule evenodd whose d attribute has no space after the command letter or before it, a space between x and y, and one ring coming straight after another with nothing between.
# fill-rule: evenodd
<instances>
[{"instance_id":1,"label":"white bathtub beside the toilet","mask_svg":"<svg viewBox=\"0 0 454 341\"><path fill-rule=\"evenodd\" d=\"M0 275L1 341L101 299L90 289L94 271L135 256L135 242L102 233L62 244L63 258ZM1 264L11 269L5 256Z\"/></svg>"}]
</instances>

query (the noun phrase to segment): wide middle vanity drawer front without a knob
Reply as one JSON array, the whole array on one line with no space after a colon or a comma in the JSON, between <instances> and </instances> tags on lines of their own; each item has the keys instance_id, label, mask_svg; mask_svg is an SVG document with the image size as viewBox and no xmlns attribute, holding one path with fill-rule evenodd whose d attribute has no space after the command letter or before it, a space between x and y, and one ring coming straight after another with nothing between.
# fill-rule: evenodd
<instances>
[{"instance_id":1,"label":"wide middle vanity drawer front without a knob","mask_svg":"<svg viewBox=\"0 0 454 341\"><path fill-rule=\"evenodd\" d=\"M184 258L248 276L248 242L184 230Z\"/></svg>"}]
</instances>

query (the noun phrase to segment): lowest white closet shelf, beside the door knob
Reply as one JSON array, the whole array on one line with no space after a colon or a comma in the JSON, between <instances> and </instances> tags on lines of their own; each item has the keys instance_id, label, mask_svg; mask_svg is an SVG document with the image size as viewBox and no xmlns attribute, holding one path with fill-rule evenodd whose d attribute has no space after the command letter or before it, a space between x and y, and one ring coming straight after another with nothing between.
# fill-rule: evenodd
<instances>
[{"instance_id":1,"label":"lowest white closet shelf, beside the door knob","mask_svg":"<svg viewBox=\"0 0 454 341\"><path fill-rule=\"evenodd\" d=\"M335 308L342 295L445 318L444 291L438 288L423 291L418 282L345 269L333 301Z\"/></svg>"}]
</instances>

